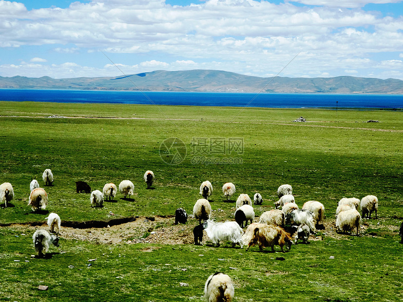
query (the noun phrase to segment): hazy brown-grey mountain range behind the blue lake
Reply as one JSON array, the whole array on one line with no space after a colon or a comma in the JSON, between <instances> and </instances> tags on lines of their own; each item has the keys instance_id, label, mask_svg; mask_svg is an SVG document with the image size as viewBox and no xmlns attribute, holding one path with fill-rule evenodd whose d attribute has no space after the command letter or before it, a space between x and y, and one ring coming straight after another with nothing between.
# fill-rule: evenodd
<instances>
[{"instance_id":1,"label":"hazy brown-grey mountain range behind the blue lake","mask_svg":"<svg viewBox=\"0 0 403 302\"><path fill-rule=\"evenodd\" d=\"M0 89L142 90L243 93L403 94L403 81L369 77L245 76L218 70L157 70L129 76L55 79L0 76Z\"/></svg>"}]
</instances>

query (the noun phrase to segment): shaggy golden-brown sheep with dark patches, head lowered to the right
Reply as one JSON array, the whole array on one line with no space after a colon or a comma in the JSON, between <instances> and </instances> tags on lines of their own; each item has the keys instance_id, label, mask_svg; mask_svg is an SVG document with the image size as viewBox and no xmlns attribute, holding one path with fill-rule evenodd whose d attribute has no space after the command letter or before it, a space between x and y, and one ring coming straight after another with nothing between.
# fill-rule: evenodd
<instances>
[{"instance_id":1,"label":"shaggy golden-brown sheep with dark patches, head lowered to the right","mask_svg":"<svg viewBox=\"0 0 403 302\"><path fill-rule=\"evenodd\" d=\"M286 245L287 249L291 249L292 238L281 227L269 226L267 224L251 224L245 231L245 235L242 237L244 244L248 242L246 251L253 245L259 244L259 249L263 250L263 247L271 247L271 251L274 252L274 245L279 245L281 251L284 253L283 246Z\"/></svg>"}]
</instances>

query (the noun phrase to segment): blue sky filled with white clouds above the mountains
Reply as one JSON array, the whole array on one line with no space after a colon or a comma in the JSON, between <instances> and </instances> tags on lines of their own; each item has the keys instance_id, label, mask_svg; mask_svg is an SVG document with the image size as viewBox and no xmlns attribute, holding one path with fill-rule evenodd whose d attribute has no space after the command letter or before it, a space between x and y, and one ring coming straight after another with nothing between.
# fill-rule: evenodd
<instances>
[{"instance_id":1,"label":"blue sky filled with white clouds above the mountains","mask_svg":"<svg viewBox=\"0 0 403 302\"><path fill-rule=\"evenodd\" d=\"M403 80L403 0L0 0L0 76Z\"/></svg>"}]
</instances>

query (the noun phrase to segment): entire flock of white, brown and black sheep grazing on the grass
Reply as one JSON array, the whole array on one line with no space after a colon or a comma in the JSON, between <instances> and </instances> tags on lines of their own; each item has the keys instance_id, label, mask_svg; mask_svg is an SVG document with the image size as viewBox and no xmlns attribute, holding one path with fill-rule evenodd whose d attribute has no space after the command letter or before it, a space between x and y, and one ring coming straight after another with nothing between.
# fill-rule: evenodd
<instances>
[{"instance_id":1,"label":"entire flock of white, brown and black sheep grazing on the grass","mask_svg":"<svg viewBox=\"0 0 403 302\"><path fill-rule=\"evenodd\" d=\"M147 189L153 189L154 173L147 170L144 174L144 181ZM52 186L54 176L50 169L46 169L42 174L42 180L45 186ZM48 205L48 196L45 189L39 187L37 180L33 179L30 183L30 195L28 206L32 211L44 210ZM134 184L130 180L123 180L116 187L113 183L107 183L101 190L91 190L90 186L83 181L76 182L76 192L91 193L90 204L93 207L102 207L104 199L113 201L117 191L124 198L134 195ZM233 213L234 221L217 222L211 217L211 197L213 188L210 181L204 181L200 185L200 195L203 198L198 199L193 207L193 217L199 224L193 229L194 244L203 245L203 231L212 241L215 247L220 246L220 242L230 242L232 247L240 245L246 246L246 251L254 245L258 245L262 251L265 247L270 247L274 252L274 245L278 245L282 252L285 252L284 246L290 250L291 245L302 241L308 244L310 234L316 232L316 228L324 223L325 207L318 201L307 201L300 209L295 203L290 185L281 185L277 189L278 201L274 202L274 209L263 212L258 222L255 221L255 211L253 205L259 206L263 203L260 193L255 193L253 203L248 194L241 193L235 201L236 209ZM225 183L222 187L224 198L231 201L235 194L235 186L232 183ZM0 203L4 208L14 198L13 186L5 182L0 185ZM358 211L361 209L361 214ZM371 218L375 212L375 219L378 211L378 198L374 195L367 195L361 200L358 198L342 198L338 202L336 209L336 229L340 233L355 232L359 236L359 228L362 217ZM58 246L61 220L58 214L50 213L46 217L49 231L38 229L33 235L33 244L39 257L44 257L48 252L50 245ZM186 224L188 215L184 208L178 208L175 211L175 225ZM248 225L249 224L249 225ZM244 231L244 228L246 230ZM295 233L294 238L291 236ZM400 233L403 244L403 223L400 227ZM204 288L207 301L232 301L234 296L234 287L230 276L217 272L207 279Z\"/></svg>"}]
</instances>

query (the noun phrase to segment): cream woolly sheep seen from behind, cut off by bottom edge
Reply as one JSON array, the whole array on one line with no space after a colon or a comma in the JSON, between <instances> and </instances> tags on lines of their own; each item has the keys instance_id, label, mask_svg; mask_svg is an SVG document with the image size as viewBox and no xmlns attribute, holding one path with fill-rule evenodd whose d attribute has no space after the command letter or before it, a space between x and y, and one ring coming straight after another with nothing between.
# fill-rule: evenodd
<instances>
[{"instance_id":1,"label":"cream woolly sheep seen from behind, cut off by bottom edge","mask_svg":"<svg viewBox=\"0 0 403 302\"><path fill-rule=\"evenodd\" d=\"M204 297L207 302L231 302L234 298L234 286L230 276L220 272L209 276L204 285Z\"/></svg>"}]
</instances>

